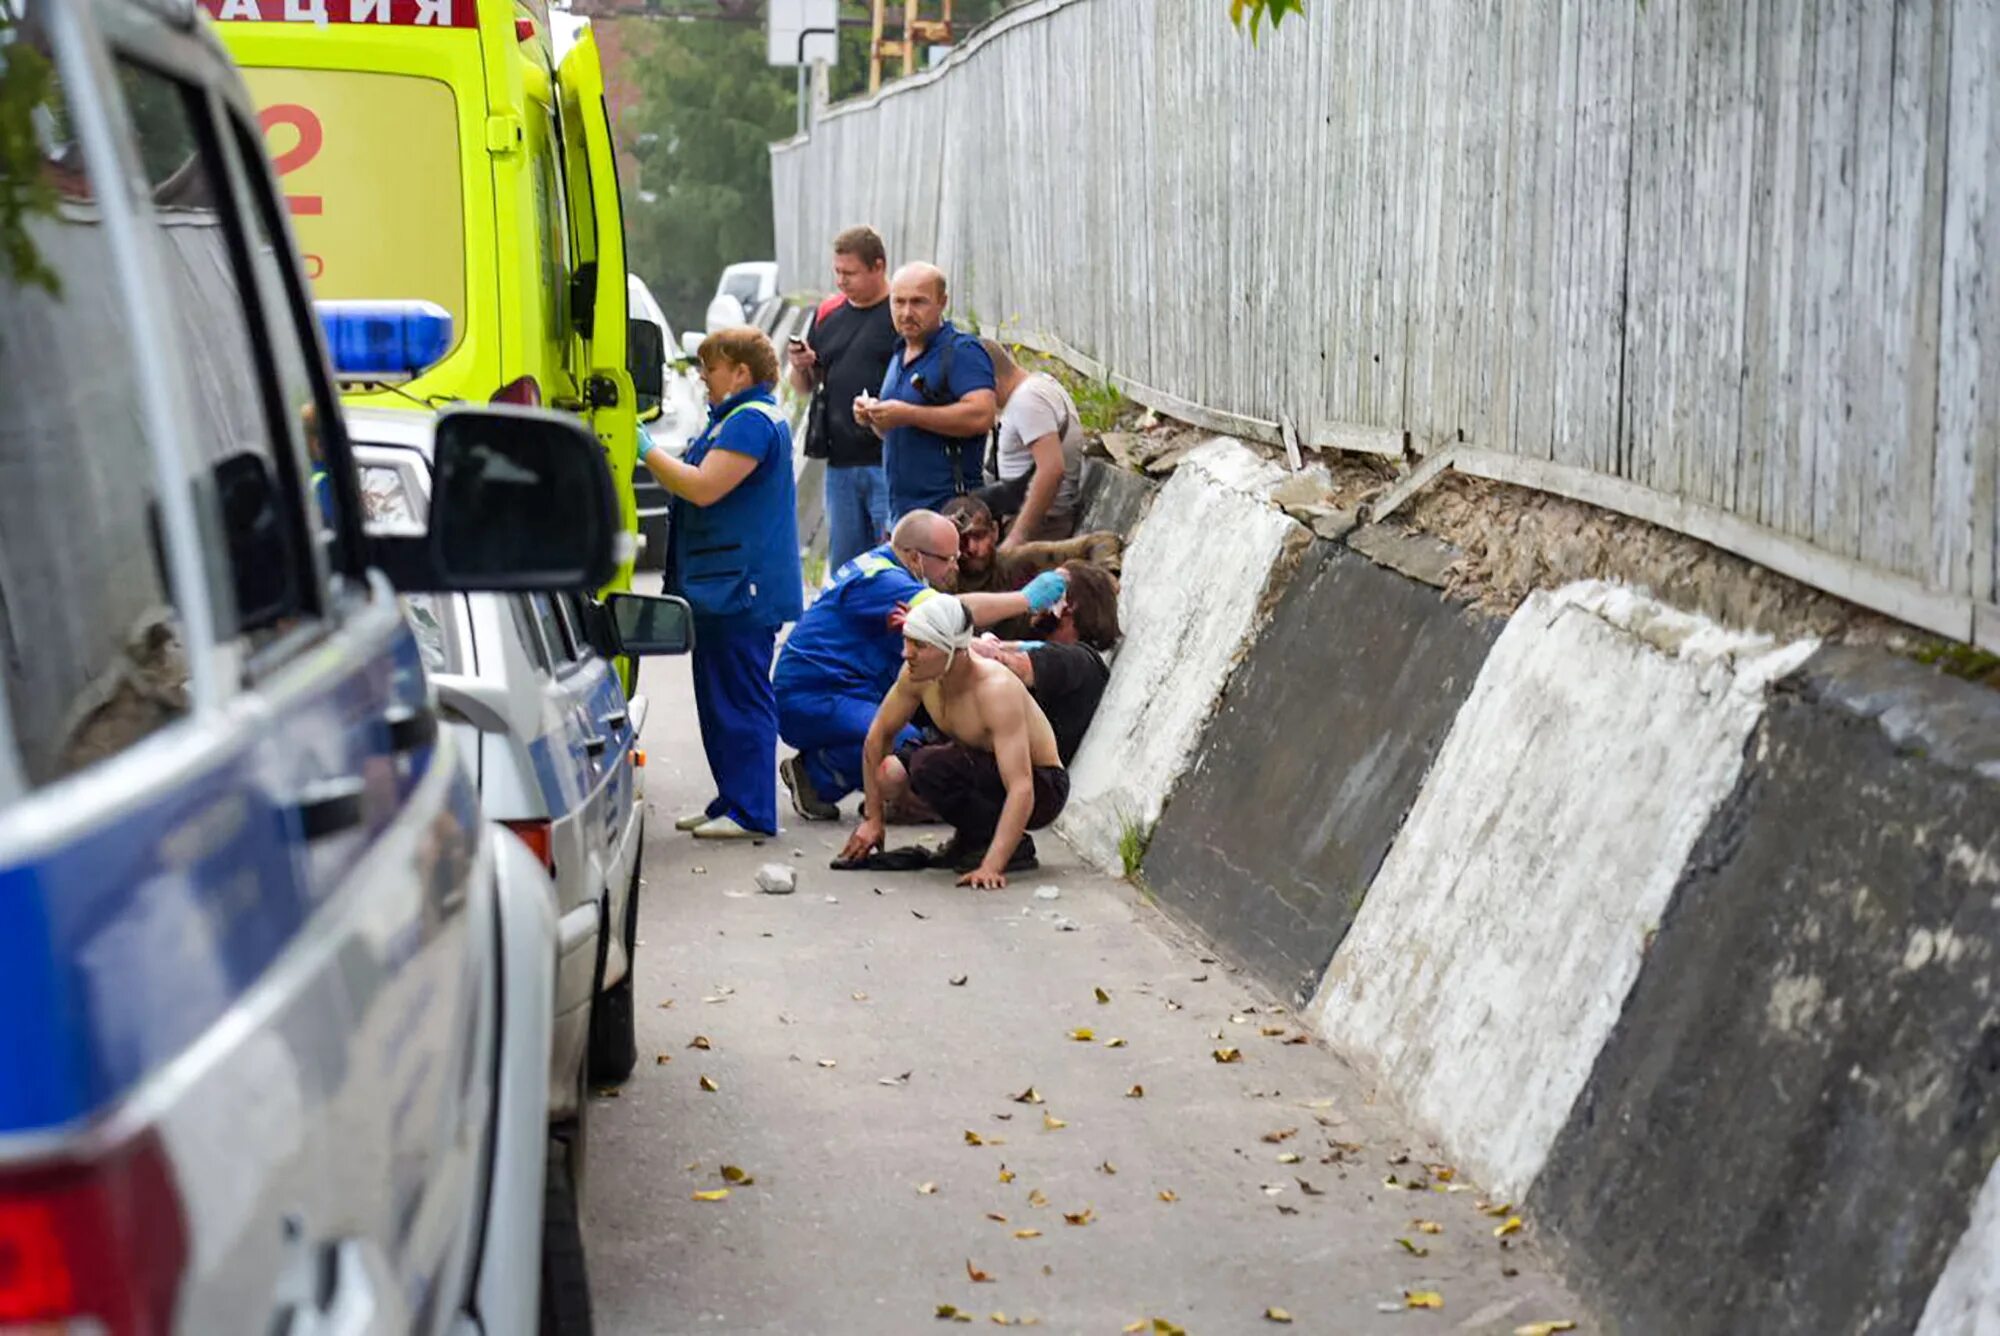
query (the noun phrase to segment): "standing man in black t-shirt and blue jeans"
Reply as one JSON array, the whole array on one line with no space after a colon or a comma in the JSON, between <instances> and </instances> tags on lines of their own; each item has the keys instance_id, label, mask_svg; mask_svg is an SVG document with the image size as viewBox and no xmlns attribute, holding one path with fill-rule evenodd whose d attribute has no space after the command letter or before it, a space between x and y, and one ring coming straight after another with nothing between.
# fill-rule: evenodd
<instances>
[{"instance_id":1,"label":"standing man in black t-shirt and blue jeans","mask_svg":"<svg viewBox=\"0 0 2000 1336\"><path fill-rule=\"evenodd\" d=\"M812 332L790 344L792 388L812 394L806 454L826 460L826 568L840 570L888 534L882 438L854 420L854 398L874 394L896 352L888 254L874 228L834 238L834 284Z\"/></svg>"}]
</instances>

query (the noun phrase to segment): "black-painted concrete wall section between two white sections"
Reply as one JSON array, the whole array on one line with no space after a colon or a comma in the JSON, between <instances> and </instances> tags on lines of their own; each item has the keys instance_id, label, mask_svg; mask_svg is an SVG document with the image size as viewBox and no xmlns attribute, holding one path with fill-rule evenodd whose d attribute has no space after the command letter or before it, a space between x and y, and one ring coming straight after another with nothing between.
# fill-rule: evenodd
<instances>
[{"instance_id":1,"label":"black-painted concrete wall section between two white sections","mask_svg":"<svg viewBox=\"0 0 2000 1336\"><path fill-rule=\"evenodd\" d=\"M1296 1002L1506 622L1314 544L1146 852L1146 884Z\"/></svg>"}]
</instances>

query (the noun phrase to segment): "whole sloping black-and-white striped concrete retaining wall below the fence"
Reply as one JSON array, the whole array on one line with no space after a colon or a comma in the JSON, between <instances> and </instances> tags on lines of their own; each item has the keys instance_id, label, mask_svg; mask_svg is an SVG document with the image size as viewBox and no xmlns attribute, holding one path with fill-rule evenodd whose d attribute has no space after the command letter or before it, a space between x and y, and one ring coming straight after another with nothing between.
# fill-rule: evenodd
<instances>
[{"instance_id":1,"label":"whole sloping black-and-white striped concrete retaining wall below the fence","mask_svg":"<svg viewBox=\"0 0 2000 1336\"><path fill-rule=\"evenodd\" d=\"M1284 584L1272 480L1154 500L1066 832L1164 806L1160 902L1324 972L1606 1330L2000 1336L2000 696L1604 584L1502 630L1360 542Z\"/></svg>"}]
</instances>

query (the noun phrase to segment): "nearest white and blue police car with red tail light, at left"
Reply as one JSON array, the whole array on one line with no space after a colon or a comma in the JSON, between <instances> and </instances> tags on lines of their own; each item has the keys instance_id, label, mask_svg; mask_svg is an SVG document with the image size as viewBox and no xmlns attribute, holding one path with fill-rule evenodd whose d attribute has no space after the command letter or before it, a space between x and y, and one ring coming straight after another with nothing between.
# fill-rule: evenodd
<instances>
[{"instance_id":1,"label":"nearest white and blue police car with red tail light, at left","mask_svg":"<svg viewBox=\"0 0 2000 1336\"><path fill-rule=\"evenodd\" d=\"M446 414L366 536L192 0L4 0L0 84L0 1332L586 1330L548 874L396 590L598 586L602 452Z\"/></svg>"}]
</instances>

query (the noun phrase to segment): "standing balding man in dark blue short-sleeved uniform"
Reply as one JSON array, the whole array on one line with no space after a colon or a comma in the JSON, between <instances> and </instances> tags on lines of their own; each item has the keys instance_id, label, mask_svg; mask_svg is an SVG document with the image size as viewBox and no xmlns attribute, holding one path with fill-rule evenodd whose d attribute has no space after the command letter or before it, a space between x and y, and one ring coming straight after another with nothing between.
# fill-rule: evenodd
<instances>
[{"instance_id":1,"label":"standing balding man in dark blue short-sleeved uniform","mask_svg":"<svg viewBox=\"0 0 2000 1336\"><path fill-rule=\"evenodd\" d=\"M1000 408L994 364L980 340L944 318L944 270L904 264L888 284L902 346L888 362L882 396L854 400L854 420L882 438L888 514L942 510L986 482L986 434Z\"/></svg>"}]
</instances>

